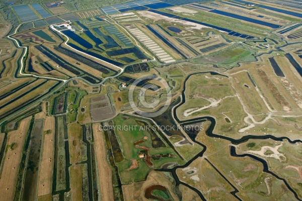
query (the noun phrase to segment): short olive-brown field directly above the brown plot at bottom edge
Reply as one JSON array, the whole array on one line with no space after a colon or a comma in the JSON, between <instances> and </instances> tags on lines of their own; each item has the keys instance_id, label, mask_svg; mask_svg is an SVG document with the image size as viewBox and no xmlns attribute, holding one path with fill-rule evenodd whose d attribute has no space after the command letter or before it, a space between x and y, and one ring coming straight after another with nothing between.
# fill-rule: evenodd
<instances>
[{"instance_id":1,"label":"short olive-brown field directly above the brown plot at bottom edge","mask_svg":"<svg viewBox=\"0 0 302 201\"><path fill-rule=\"evenodd\" d=\"M82 141L82 127L74 122L68 124L68 142L70 151L70 164L77 164L87 160L86 144Z\"/></svg>"}]
</instances>

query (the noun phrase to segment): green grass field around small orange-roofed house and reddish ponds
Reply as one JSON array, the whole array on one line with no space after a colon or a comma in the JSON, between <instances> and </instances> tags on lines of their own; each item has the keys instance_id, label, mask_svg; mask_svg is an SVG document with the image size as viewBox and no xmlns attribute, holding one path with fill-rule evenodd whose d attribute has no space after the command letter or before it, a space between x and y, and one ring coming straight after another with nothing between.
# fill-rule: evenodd
<instances>
[{"instance_id":1,"label":"green grass field around small orange-roofed house and reddish ponds","mask_svg":"<svg viewBox=\"0 0 302 201\"><path fill-rule=\"evenodd\" d=\"M119 171L121 180L123 183L129 183L132 180L139 181L144 180L147 176L148 171L152 168L148 166L144 159L141 159L138 157L138 154L143 149L141 147L135 147L133 144L135 142L138 142L140 140L143 140L144 137L147 137L147 140L143 140L142 143L139 144L139 146L146 147L149 149L149 155L158 155L158 154L167 154L171 153L174 155L173 158L165 157L161 158L159 160L152 159L151 161L154 163L154 167L158 168L161 167L163 164L168 162L176 162L176 163L182 163L180 158L177 156L177 154L174 152L174 150L170 147L159 147L154 148L152 145L152 136L150 136L150 133L143 129L143 127L140 127L140 125L132 118L123 118L122 116L118 116L114 119L114 125L116 126L132 126L133 130L123 130L123 131L115 131L115 134L117 136L118 142L120 144L122 154L124 156L124 160L120 163L118 163ZM136 159L138 163L138 168L125 171L127 168L130 167L130 161L132 159Z\"/></svg>"}]
</instances>

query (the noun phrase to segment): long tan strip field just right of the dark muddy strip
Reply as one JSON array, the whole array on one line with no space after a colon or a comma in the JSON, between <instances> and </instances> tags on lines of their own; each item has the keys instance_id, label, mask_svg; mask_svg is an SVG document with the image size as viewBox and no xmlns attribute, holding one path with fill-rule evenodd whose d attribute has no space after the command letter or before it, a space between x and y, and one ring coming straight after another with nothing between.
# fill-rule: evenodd
<instances>
[{"instance_id":1,"label":"long tan strip field just right of the dark muddy strip","mask_svg":"<svg viewBox=\"0 0 302 201\"><path fill-rule=\"evenodd\" d=\"M43 105L45 106L45 104ZM49 134L46 134L46 132ZM40 164L40 169L42 171L40 171L39 173L38 196L51 194L52 192L52 175L54 165L54 134L54 117L47 116L45 117L44 121L44 142L42 148L42 160Z\"/></svg>"}]
</instances>

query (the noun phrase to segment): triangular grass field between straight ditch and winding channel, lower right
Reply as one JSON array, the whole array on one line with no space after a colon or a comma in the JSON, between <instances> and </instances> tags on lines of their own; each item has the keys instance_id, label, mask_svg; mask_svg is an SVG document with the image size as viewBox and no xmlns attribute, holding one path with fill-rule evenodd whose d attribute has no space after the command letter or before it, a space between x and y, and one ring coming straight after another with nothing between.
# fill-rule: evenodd
<instances>
[{"instance_id":1,"label":"triangular grass field between straight ditch and winding channel, lower right","mask_svg":"<svg viewBox=\"0 0 302 201\"><path fill-rule=\"evenodd\" d=\"M207 146L204 157L239 189L237 195L242 199L272 200L276 197L294 199L283 181L262 171L263 166L260 162L252 160L250 157L232 157L228 141L200 134L197 136L197 140ZM269 188L264 181L266 178L269 179Z\"/></svg>"}]
</instances>

